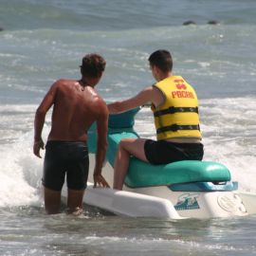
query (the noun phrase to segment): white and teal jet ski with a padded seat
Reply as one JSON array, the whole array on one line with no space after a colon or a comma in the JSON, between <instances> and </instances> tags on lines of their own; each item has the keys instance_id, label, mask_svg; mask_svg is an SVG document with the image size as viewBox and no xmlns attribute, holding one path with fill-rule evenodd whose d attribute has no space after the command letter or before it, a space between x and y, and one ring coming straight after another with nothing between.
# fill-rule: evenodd
<instances>
[{"instance_id":1,"label":"white and teal jet ski with a padded seat","mask_svg":"<svg viewBox=\"0 0 256 256\"><path fill-rule=\"evenodd\" d=\"M119 141L139 137L134 129L139 108L110 115L108 149L102 174L113 188ZM184 160L152 165L132 156L123 191L93 188L96 125L88 131L90 172L83 202L118 215L168 219L218 218L256 213L256 193L240 192L229 169L214 161Z\"/></svg>"}]
</instances>

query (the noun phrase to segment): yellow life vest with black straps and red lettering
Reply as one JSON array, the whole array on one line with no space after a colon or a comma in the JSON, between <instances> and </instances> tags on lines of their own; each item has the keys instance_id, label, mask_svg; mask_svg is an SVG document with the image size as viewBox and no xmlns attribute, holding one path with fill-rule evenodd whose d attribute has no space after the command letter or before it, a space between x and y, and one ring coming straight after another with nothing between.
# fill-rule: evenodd
<instances>
[{"instance_id":1,"label":"yellow life vest with black straps and red lettering","mask_svg":"<svg viewBox=\"0 0 256 256\"><path fill-rule=\"evenodd\" d=\"M192 86L180 76L172 76L154 85L165 101L152 111L157 140L172 137L201 138L198 101Z\"/></svg>"}]
</instances>

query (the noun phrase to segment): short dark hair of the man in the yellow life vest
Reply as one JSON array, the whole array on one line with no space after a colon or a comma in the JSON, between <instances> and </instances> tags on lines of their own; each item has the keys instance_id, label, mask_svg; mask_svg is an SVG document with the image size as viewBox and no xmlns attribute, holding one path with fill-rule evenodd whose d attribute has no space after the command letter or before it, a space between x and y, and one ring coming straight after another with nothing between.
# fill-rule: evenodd
<instances>
[{"instance_id":1,"label":"short dark hair of the man in the yellow life vest","mask_svg":"<svg viewBox=\"0 0 256 256\"><path fill-rule=\"evenodd\" d=\"M173 58L168 50L159 49L153 52L149 57L151 66L156 65L163 72L173 70Z\"/></svg>"}]
</instances>

